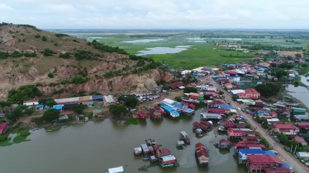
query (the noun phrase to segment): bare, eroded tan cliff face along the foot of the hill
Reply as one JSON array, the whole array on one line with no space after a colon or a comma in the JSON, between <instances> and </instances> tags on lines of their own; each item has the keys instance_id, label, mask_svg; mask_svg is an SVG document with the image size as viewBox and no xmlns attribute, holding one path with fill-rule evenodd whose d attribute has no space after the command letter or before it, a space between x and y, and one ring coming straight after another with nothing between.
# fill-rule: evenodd
<instances>
[{"instance_id":1,"label":"bare, eroded tan cliff face along the foot of the hill","mask_svg":"<svg viewBox=\"0 0 309 173\"><path fill-rule=\"evenodd\" d=\"M164 79L165 81L175 80L175 77L166 71L161 69L152 69L142 75L129 74L126 76L115 76L112 78L97 78L91 77L89 81L82 84L59 84L56 86L38 86L43 95L51 95L54 91L64 89L65 92L54 95L54 97L70 97L74 93L85 91L87 93L99 92L102 94L123 94L123 93L140 93L148 92L158 85L156 81ZM29 84L29 83L28 83ZM0 98L6 99L8 91L12 88L3 88L0 91Z\"/></svg>"}]
</instances>

